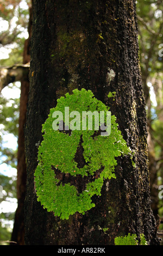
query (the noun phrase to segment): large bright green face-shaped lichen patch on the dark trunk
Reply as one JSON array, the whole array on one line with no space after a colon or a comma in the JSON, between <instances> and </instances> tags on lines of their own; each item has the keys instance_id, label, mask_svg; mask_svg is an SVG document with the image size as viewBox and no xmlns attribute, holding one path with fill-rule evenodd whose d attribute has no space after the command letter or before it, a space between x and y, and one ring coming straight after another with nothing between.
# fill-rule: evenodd
<instances>
[{"instance_id":1,"label":"large bright green face-shaped lichen patch on the dark trunk","mask_svg":"<svg viewBox=\"0 0 163 256\"><path fill-rule=\"evenodd\" d=\"M52 124L54 111L61 111L65 122L65 107L70 112L78 111L108 111L109 108L97 100L88 90L73 90L73 94L66 94L58 99L57 106L52 108L45 124L42 125L43 141L39 147L38 166L35 170L35 185L37 200L47 211L53 211L55 216L68 219L75 212L84 214L95 204L92 203L93 195L101 196L104 179L116 178L114 168L117 164L115 157L130 153L121 131L118 130L116 117L111 115L111 135L95 135L95 130L73 130L71 136L59 130L54 131ZM71 121L71 118L70 118ZM85 165L78 168L74 160L82 136L83 157ZM53 167L53 168L52 168ZM95 175L96 170L103 167L103 171L94 181L87 183L85 190L78 193L77 188L70 183L60 184L54 173L54 168L61 173L85 176ZM75 179L75 178L74 178Z\"/></svg>"}]
</instances>

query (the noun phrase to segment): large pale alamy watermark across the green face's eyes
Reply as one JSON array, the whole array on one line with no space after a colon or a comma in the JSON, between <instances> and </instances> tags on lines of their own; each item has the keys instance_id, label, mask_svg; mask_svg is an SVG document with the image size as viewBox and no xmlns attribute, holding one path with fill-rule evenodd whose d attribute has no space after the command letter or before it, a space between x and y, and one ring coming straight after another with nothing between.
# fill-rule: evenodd
<instances>
[{"instance_id":1,"label":"large pale alamy watermark across the green face's eyes","mask_svg":"<svg viewBox=\"0 0 163 256\"><path fill-rule=\"evenodd\" d=\"M64 118L65 117L65 120ZM82 116L78 111L70 112L69 107L65 107L65 113L54 111L52 127L54 131L68 130L90 130L101 131L101 136L109 136L111 133L111 112L110 111L82 111ZM71 121L70 121L71 119ZM100 124L100 125L99 125Z\"/></svg>"}]
</instances>

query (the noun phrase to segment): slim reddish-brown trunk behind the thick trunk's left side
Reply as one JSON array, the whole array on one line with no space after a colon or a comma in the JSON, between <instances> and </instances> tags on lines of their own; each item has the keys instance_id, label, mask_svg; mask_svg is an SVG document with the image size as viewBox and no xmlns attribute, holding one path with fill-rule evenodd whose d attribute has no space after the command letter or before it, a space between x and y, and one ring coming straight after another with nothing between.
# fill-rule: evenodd
<instances>
[{"instance_id":1,"label":"slim reddish-brown trunk behind the thick trunk's left side","mask_svg":"<svg viewBox=\"0 0 163 256\"><path fill-rule=\"evenodd\" d=\"M28 26L29 38L24 43L23 64L30 62L30 38L32 36L32 8ZM12 230L10 245L24 245L24 199L26 197L26 155L24 145L24 126L26 124L26 112L29 93L29 81L21 80L20 117L18 127L18 151L17 151L17 209L15 213L14 228Z\"/></svg>"}]
</instances>

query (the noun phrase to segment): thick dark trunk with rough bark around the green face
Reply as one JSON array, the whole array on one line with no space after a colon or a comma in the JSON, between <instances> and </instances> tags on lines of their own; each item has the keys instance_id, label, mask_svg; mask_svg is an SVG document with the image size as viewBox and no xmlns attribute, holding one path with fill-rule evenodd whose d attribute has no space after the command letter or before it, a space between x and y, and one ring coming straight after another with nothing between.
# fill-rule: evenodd
<instances>
[{"instance_id":1,"label":"thick dark trunk with rough bark around the green face","mask_svg":"<svg viewBox=\"0 0 163 256\"><path fill-rule=\"evenodd\" d=\"M157 245L151 210L145 100L139 68L135 1L34 1L30 92L26 123L26 245L114 245L128 233ZM69 220L37 202L34 171L42 124L57 99L90 89L110 106L129 147L118 157L116 179L105 180L95 208ZM116 92L115 100L109 92ZM108 228L103 231L103 228Z\"/></svg>"}]
</instances>

